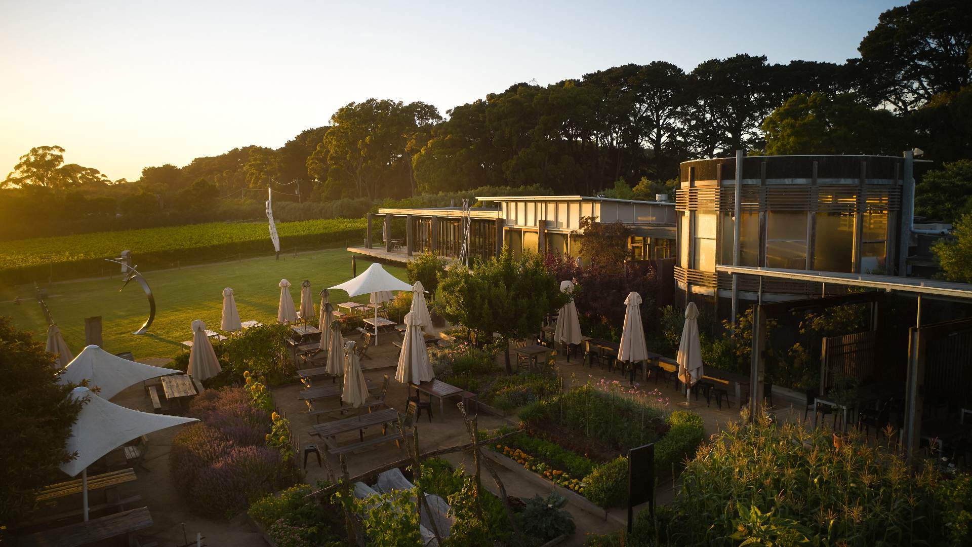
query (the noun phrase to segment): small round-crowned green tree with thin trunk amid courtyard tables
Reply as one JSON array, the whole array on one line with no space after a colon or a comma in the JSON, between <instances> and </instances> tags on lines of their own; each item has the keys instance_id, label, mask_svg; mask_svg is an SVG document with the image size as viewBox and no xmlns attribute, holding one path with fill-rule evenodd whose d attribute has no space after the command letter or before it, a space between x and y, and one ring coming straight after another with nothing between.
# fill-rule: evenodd
<instances>
[{"instance_id":1,"label":"small round-crowned green tree with thin trunk amid courtyard tables","mask_svg":"<svg viewBox=\"0 0 972 547\"><path fill-rule=\"evenodd\" d=\"M477 260L472 270L455 265L442 275L439 290L449 321L503 337L508 374L509 341L537 334L543 318L569 300L538 255L516 259L506 247L500 256Z\"/></svg>"}]
</instances>

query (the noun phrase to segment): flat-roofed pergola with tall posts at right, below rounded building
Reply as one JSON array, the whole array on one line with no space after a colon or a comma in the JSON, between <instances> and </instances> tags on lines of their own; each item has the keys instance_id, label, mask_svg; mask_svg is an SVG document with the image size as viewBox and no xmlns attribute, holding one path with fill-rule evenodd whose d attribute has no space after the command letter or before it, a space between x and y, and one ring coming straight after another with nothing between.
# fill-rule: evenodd
<instances>
[{"instance_id":1,"label":"flat-roofed pergola with tall posts at right, below rounded building","mask_svg":"<svg viewBox=\"0 0 972 547\"><path fill-rule=\"evenodd\" d=\"M935 279L917 277L897 277L891 275L844 274L838 272L815 272L809 270L781 270L753 266L716 266L717 272L726 274L755 275L759 278L760 297L762 280L765 277L790 280L813 281L821 283L821 295L829 284L873 289L863 293L842 296L821 296L820 298L801 299L764 304L762 298L754 307L752 331L752 360L750 364L749 410L753 415L758 412L763 400L763 378L765 369L766 321L771 314L796 308L830 308L848 304L876 302L881 294L898 293L918 299L918 313L915 326L909 329L908 368L905 384L905 419L903 427L904 446L909 454L917 451L920 442L921 408L924 383L925 355L929 342L936 336L948 336L958 332L972 331L972 319L958 319L930 323L921 317L923 299L946 300L962 304L972 304L972 284L952 283Z\"/></svg>"}]
</instances>

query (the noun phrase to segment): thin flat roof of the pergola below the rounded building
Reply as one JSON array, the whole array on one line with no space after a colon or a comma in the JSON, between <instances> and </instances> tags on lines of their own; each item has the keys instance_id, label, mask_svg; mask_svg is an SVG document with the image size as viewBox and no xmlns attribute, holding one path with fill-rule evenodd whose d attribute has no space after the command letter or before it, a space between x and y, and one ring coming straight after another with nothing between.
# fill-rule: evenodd
<instances>
[{"instance_id":1,"label":"thin flat roof of the pergola below the rounded building","mask_svg":"<svg viewBox=\"0 0 972 547\"><path fill-rule=\"evenodd\" d=\"M972 300L972 284L922 279L920 277L899 277L896 275L845 274L843 272L817 272L813 270L783 270L778 268L759 268L756 266L717 265L716 272L726 274L747 274L760 277L780 277L817 283L834 283L851 287L869 287L885 291L905 292L934 297Z\"/></svg>"}]
</instances>

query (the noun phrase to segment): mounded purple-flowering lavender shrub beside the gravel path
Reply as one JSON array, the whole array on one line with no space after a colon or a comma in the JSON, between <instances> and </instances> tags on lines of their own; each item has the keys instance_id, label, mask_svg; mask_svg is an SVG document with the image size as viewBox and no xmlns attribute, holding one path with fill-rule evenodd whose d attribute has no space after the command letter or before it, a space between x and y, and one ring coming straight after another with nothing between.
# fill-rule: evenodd
<instances>
[{"instance_id":1,"label":"mounded purple-flowering lavender shrub beside the gravel path","mask_svg":"<svg viewBox=\"0 0 972 547\"><path fill-rule=\"evenodd\" d=\"M299 480L293 463L265 446L269 415L243 388L207 390L188 414L200 422L175 436L169 468L176 488L197 512L230 518L251 500Z\"/></svg>"}]
</instances>

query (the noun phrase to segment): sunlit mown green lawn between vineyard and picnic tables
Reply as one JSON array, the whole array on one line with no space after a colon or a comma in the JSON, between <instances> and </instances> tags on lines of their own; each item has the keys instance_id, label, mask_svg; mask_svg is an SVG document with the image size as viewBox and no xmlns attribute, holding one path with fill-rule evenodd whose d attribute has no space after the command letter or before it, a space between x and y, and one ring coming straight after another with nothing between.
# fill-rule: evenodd
<instances>
[{"instance_id":1,"label":"sunlit mown green lawn between vineyard and picnic tables","mask_svg":"<svg viewBox=\"0 0 972 547\"><path fill-rule=\"evenodd\" d=\"M370 262L357 260L358 274ZM385 266L390 273L407 280L405 269ZM137 282L121 292L121 274L112 279L87 279L53 283L48 307L60 327L67 345L75 354L85 345L85 317L101 315L105 349L119 353L131 351L136 359L170 357L181 350L179 343L190 340L190 323L202 319L206 327L218 330L223 308L223 289L232 287L240 320L276 321L281 278L291 281L295 307L300 306L300 282L310 279L315 299L322 288L351 278L351 253L344 249L308 252L296 257L260 257L242 262L207 264L182 270L144 272L156 296L156 320L149 333L135 336L149 315L149 303ZM15 305L20 297L24 301ZM367 295L349 299L344 291L332 291L330 302L348 300L367 302ZM317 302L317 301L315 301ZM44 313L34 300L33 285L12 289L0 287L0 315L10 315L23 330L34 331L45 340Z\"/></svg>"}]
</instances>

